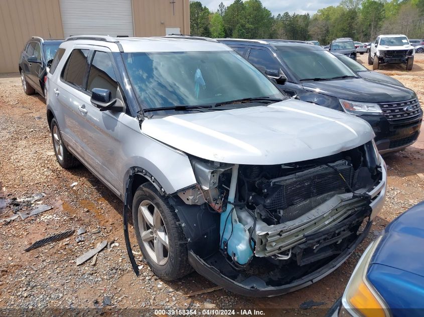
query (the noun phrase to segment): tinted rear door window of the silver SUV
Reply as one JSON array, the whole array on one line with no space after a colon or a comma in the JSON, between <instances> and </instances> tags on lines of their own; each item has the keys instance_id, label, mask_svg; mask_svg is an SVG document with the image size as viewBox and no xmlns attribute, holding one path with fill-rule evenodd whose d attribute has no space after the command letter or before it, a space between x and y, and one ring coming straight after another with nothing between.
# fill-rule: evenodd
<instances>
[{"instance_id":1,"label":"tinted rear door window of the silver SUV","mask_svg":"<svg viewBox=\"0 0 424 317\"><path fill-rule=\"evenodd\" d=\"M89 50L73 50L63 68L61 79L69 84L82 88L89 52Z\"/></svg>"}]
</instances>

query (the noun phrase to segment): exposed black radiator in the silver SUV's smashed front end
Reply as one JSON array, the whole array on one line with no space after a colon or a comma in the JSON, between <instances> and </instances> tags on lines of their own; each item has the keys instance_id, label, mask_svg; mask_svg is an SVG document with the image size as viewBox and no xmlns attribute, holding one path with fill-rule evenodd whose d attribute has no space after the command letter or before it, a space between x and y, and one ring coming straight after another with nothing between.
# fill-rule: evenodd
<instances>
[{"instance_id":1,"label":"exposed black radiator in the silver SUV's smashed front end","mask_svg":"<svg viewBox=\"0 0 424 317\"><path fill-rule=\"evenodd\" d=\"M353 168L346 161L331 164L352 185ZM266 197L264 207L268 210L282 210L285 219L296 218L317 207L330 197L326 194L346 192L347 186L340 175L332 168L322 165L294 175L281 177L272 181L271 193ZM316 199L312 199L316 197ZM321 198L326 198L324 201ZM299 207L289 208L290 206ZM287 209L287 210L286 210ZM293 218L295 219L295 218Z\"/></svg>"}]
</instances>

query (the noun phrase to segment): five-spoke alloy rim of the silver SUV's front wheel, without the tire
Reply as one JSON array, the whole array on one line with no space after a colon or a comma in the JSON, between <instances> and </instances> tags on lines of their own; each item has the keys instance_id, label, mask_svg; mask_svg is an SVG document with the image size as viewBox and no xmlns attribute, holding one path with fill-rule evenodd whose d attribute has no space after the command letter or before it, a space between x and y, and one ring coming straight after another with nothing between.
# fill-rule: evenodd
<instances>
[{"instance_id":1,"label":"five-spoke alloy rim of the silver SUV's front wheel, without the tire","mask_svg":"<svg viewBox=\"0 0 424 317\"><path fill-rule=\"evenodd\" d=\"M138 207L138 229L149 256L156 264L165 265L169 255L168 233L161 213L150 200L143 200Z\"/></svg>"}]
</instances>

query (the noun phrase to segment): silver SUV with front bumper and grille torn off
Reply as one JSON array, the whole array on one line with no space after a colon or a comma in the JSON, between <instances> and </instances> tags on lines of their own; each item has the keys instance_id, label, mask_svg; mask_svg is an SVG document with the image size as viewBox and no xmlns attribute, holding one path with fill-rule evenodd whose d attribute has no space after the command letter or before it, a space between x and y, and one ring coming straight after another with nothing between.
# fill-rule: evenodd
<instances>
[{"instance_id":1,"label":"silver SUV with front bumper and grille torn off","mask_svg":"<svg viewBox=\"0 0 424 317\"><path fill-rule=\"evenodd\" d=\"M336 269L384 202L368 123L287 97L216 41L70 37L47 84L57 160L124 201L137 274L128 213L159 277L272 296Z\"/></svg>"}]
</instances>

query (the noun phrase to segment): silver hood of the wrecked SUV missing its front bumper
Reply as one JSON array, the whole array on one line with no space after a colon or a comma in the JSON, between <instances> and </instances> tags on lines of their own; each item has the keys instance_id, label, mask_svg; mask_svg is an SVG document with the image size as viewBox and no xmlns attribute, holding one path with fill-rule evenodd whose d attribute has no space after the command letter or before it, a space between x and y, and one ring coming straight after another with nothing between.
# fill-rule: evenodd
<instances>
[{"instance_id":1,"label":"silver hood of the wrecked SUV missing its front bumper","mask_svg":"<svg viewBox=\"0 0 424 317\"><path fill-rule=\"evenodd\" d=\"M255 165L336 154L374 136L362 119L295 99L148 119L142 124L142 133L203 159Z\"/></svg>"}]
</instances>

